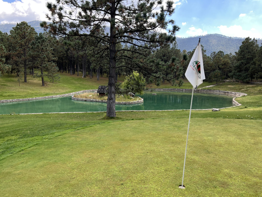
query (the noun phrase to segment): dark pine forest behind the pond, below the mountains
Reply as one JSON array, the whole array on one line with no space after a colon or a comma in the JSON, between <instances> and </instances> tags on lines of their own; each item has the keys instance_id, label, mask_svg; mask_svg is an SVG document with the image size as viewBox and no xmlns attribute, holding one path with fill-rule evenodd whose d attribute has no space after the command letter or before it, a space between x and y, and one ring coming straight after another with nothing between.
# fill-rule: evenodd
<instances>
[{"instance_id":1,"label":"dark pine forest behind the pond, below the mountains","mask_svg":"<svg viewBox=\"0 0 262 197\"><path fill-rule=\"evenodd\" d=\"M61 37L55 39L47 33L37 33L26 22L17 24L10 34L0 32L1 67L0 71L23 77L26 75L42 77L46 71L50 81L59 79L59 72L68 72L71 75L83 77L108 77L107 65L108 53L103 55L95 53L104 50L102 44L94 46L94 42L85 38ZM127 47L127 46L125 46ZM121 44L117 45L121 50ZM206 80L217 81L221 79L237 79L243 82L262 78L262 47L255 39L245 38L236 54L224 54L223 51L214 51L210 56L206 55L202 45L204 70ZM170 48L161 47L151 51L152 56L161 59L164 63L174 56L180 64L181 77L194 53L193 51L181 51L176 42ZM188 56L185 60L184 54ZM43 56L45 58L43 58ZM184 60L183 60L184 59ZM183 61L182 61L183 60ZM5 65L5 66L4 66ZM116 69L117 76L130 74L131 70L124 67ZM160 81L156 82L157 84Z\"/></svg>"}]
</instances>

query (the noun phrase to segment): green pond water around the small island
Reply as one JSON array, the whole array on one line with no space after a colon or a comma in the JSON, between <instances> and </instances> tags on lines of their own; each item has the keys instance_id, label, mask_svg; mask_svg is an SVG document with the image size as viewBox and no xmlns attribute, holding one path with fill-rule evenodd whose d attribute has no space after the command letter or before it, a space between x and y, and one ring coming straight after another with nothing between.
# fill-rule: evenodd
<instances>
[{"instance_id":1,"label":"green pond water around the small island","mask_svg":"<svg viewBox=\"0 0 262 197\"><path fill-rule=\"evenodd\" d=\"M152 95L156 93L157 95ZM185 110L190 109L191 93L145 92L144 103L116 105L116 111L124 110ZM232 97L194 93L192 109L210 109L232 106ZM71 97L39 99L0 103L0 114L95 112L106 111L106 103L72 100Z\"/></svg>"}]
</instances>

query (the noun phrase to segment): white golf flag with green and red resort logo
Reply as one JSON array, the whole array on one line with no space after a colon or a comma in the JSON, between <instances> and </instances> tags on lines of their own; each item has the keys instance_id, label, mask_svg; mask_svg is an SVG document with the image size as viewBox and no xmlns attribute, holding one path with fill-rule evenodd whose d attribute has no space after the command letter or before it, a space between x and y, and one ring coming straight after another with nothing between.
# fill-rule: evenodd
<instances>
[{"instance_id":1,"label":"white golf flag with green and red resort logo","mask_svg":"<svg viewBox=\"0 0 262 197\"><path fill-rule=\"evenodd\" d=\"M197 89L197 87L203 83L205 79L204 65L201 45L198 44L196 50L191 58L187 71L185 71L185 77L192 84L192 86Z\"/></svg>"}]
</instances>

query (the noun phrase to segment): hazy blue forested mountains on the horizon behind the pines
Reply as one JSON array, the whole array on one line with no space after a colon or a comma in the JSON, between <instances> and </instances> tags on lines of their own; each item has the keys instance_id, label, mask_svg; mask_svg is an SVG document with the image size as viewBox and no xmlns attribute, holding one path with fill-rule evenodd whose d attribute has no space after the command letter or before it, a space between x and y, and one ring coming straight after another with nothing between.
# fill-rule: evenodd
<instances>
[{"instance_id":1,"label":"hazy blue forested mountains on the horizon behind the pines","mask_svg":"<svg viewBox=\"0 0 262 197\"><path fill-rule=\"evenodd\" d=\"M40 20L33 20L28 22L28 25L35 28L37 33L44 32L44 30L40 27ZM5 23L0 24L0 31L9 33L10 30L15 27L16 23ZM232 53L238 51L239 46L242 44L245 38L237 38L237 37L227 37L220 34L207 34L189 38L176 38L177 47L181 51L184 49L186 51L192 51L195 49L198 44L198 40L201 38L200 43L204 46L206 50L206 55L210 55L213 51L223 51L225 54ZM262 40L258 40L259 46L261 46Z\"/></svg>"}]
</instances>

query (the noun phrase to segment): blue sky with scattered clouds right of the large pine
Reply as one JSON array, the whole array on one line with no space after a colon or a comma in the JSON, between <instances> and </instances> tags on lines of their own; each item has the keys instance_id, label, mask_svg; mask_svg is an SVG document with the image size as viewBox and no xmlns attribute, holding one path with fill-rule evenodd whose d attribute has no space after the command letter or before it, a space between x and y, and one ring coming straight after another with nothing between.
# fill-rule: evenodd
<instances>
[{"instance_id":1,"label":"blue sky with scattered clouds right of the large pine","mask_svg":"<svg viewBox=\"0 0 262 197\"><path fill-rule=\"evenodd\" d=\"M187 0L176 2L172 19L179 37L218 33L231 37L262 38L261 0Z\"/></svg>"}]
</instances>

